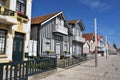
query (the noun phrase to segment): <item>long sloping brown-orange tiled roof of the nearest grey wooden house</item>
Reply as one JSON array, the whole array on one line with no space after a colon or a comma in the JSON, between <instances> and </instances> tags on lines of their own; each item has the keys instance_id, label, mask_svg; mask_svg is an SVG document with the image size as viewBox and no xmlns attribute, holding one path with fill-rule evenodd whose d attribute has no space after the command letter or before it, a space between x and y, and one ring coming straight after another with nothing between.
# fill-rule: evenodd
<instances>
[{"instance_id":1,"label":"long sloping brown-orange tiled roof of the nearest grey wooden house","mask_svg":"<svg viewBox=\"0 0 120 80\"><path fill-rule=\"evenodd\" d=\"M39 16L39 17L35 17L35 18L32 18L31 19L31 24L40 24L46 20L48 20L49 18L55 16L56 14L60 13L59 12L55 12L55 13L52 13L52 14L47 14L47 15L43 15L43 16Z\"/></svg>"}]
</instances>

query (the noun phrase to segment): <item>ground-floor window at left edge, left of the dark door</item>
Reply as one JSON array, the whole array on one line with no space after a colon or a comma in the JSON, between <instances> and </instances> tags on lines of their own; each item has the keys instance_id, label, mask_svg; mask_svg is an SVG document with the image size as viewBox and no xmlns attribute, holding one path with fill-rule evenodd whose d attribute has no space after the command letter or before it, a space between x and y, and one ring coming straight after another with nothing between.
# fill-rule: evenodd
<instances>
[{"instance_id":1,"label":"ground-floor window at left edge, left of the dark door","mask_svg":"<svg viewBox=\"0 0 120 80\"><path fill-rule=\"evenodd\" d=\"M0 54L5 54L6 34L6 30L0 29Z\"/></svg>"}]
</instances>

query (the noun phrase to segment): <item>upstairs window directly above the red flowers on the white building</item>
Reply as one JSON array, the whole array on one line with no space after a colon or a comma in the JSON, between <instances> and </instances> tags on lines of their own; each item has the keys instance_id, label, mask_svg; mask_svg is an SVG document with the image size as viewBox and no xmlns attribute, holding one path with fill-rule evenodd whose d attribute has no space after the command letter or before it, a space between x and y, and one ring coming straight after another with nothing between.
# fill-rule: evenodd
<instances>
[{"instance_id":1,"label":"upstairs window directly above the red flowers on the white building","mask_svg":"<svg viewBox=\"0 0 120 80\"><path fill-rule=\"evenodd\" d=\"M17 0L16 11L26 14L26 0Z\"/></svg>"}]
</instances>

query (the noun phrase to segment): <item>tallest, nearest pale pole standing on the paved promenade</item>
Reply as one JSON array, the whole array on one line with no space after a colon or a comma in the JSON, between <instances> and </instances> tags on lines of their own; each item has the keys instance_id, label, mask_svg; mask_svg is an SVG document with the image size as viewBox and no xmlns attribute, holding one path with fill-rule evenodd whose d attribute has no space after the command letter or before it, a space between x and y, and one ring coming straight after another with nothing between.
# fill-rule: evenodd
<instances>
[{"instance_id":1,"label":"tallest, nearest pale pole standing on the paved promenade","mask_svg":"<svg viewBox=\"0 0 120 80\"><path fill-rule=\"evenodd\" d=\"M95 67L97 67L98 59L97 59L97 21L96 21L96 18L94 19L94 26L95 26Z\"/></svg>"}]
</instances>

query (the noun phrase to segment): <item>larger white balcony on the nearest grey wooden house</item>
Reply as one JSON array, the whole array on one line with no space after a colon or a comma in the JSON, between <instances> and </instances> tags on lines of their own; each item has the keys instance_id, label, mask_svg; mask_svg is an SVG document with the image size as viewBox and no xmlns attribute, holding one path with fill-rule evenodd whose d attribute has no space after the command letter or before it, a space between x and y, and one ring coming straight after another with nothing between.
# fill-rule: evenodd
<instances>
[{"instance_id":1,"label":"larger white balcony on the nearest grey wooden house","mask_svg":"<svg viewBox=\"0 0 120 80\"><path fill-rule=\"evenodd\" d=\"M53 32L68 35L68 29L66 27L58 25L58 24L55 25Z\"/></svg>"}]
</instances>

